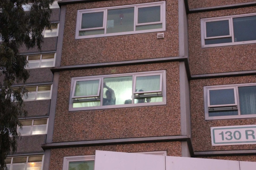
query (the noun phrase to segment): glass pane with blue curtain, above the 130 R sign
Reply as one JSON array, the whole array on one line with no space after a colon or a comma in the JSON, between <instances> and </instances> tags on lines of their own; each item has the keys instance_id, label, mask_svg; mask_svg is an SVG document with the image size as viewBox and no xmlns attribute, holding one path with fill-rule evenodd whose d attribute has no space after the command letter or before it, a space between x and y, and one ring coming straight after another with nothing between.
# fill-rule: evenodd
<instances>
[{"instance_id":1,"label":"glass pane with blue curtain, above the 130 R sign","mask_svg":"<svg viewBox=\"0 0 256 170\"><path fill-rule=\"evenodd\" d=\"M256 114L256 86L238 87L241 114Z\"/></svg>"}]
</instances>

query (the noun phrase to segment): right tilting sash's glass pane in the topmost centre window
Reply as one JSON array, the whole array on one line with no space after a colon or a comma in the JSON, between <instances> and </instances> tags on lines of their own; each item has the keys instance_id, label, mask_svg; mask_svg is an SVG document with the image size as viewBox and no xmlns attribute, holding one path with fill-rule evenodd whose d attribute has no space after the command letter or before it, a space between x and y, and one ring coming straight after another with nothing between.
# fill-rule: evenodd
<instances>
[{"instance_id":1,"label":"right tilting sash's glass pane in the topmost centre window","mask_svg":"<svg viewBox=\"0 0 256 170\"><path fill-rule=\"evenodd\" d=\"M139 24L147 23L147 22L159 22L161 21L160 17L161 17L160 6L138 8Z\"/></svg>"}]
</instances>

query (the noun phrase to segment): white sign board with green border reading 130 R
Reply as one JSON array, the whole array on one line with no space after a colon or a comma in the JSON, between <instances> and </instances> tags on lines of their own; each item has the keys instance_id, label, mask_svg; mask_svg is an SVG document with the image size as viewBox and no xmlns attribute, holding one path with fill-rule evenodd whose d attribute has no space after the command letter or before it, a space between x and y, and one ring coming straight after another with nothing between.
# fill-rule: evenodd
<instances>
[{"instance_id":1,"label":"white sign board with green border reading 130 R","mask_svg":"<svg viewBox=\"0 0 256 170\"><path fill-rule=\"evenodd\" d=\"M256 125L211 127L211 144L213 146L256 144Z\"/></svg>"}]
</instances>

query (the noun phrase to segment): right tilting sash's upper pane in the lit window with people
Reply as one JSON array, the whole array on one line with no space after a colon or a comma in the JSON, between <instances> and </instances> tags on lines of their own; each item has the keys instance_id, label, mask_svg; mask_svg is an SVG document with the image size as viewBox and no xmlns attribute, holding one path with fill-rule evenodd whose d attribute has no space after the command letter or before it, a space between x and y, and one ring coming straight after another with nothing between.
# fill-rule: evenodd
<instances>
[{"instance_id":1,"label":"right tilting sash's upper pane in the lit window with people","mask_svg":"<svg viewBox=\"0 0 256 170\"><path fill-rule=\"evenodd\" d=\"M156 91L160 90L160 75L151 75L151 76L139 76L136 77L136 87L138 91Z\"/></svg>"}]
</instances>

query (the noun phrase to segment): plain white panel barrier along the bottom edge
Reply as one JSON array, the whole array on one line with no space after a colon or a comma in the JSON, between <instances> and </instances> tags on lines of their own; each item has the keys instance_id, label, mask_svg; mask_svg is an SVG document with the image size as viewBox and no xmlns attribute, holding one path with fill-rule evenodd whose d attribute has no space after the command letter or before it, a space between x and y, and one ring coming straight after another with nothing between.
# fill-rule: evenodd
<instances>
[{"instance_id":1,"label":"plain white panel barrier along the bottom edge","mask_svg":"<svg viewBox=\"0 0 256 170\"><path fill-rule=\"evenodd\" d=\"M256 162L96 150L94 170L255 170Z\"/></svg>"}]
</instances>

